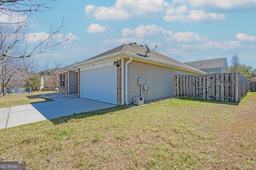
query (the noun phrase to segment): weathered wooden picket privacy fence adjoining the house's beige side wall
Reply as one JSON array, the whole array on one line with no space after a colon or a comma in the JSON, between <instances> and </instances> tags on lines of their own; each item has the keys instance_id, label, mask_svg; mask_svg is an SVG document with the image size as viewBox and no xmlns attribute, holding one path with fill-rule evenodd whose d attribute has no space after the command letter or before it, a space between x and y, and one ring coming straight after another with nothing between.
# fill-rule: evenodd
<instances>
[{"instance_id":1,"label":"weathered wooden picket privacy fence adjoining the house's beige side wall","mask_svg":"<svg viewBox=\"0 0 256 170\"><path fill-rule=\"evenodd\" d=\"M240 73L174 75L174 95L240 102L250 88Z\"/></svg>"}]
</instances>

